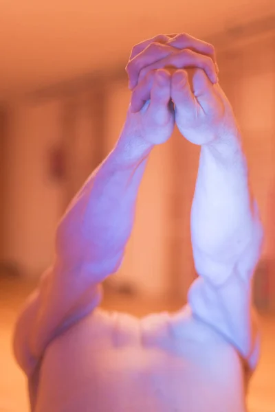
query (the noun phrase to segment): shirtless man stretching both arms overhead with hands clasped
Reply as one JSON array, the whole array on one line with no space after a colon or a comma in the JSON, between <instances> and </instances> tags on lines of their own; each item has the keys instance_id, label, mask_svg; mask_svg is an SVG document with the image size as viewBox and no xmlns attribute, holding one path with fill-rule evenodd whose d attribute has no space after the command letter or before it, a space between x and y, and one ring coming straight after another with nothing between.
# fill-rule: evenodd
<instances>
[{"instance_id":1,"label":"shirtless man stretching both arms overhead with hands clasped","mask_svg":"<svg viewBox=\"0 0 275 412\"><path fill-rule=\"evenodd\" d=\"M35 412L243 412L259 356L251 284L262 228L211 45L160 35L133 48L118 143L72 201L56 259L30 297L14 352ZM148 157L177 124L201 145L188 305L138 320L98 308L118 270Z\"/></svg>"}]
</instances>

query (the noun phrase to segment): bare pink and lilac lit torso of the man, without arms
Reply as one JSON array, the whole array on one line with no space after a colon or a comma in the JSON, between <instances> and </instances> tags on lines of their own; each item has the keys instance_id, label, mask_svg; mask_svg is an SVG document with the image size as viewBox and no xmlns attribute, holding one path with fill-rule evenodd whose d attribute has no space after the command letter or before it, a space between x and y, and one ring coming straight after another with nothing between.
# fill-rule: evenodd
<instances>
[{"instance_id":1,"label":"bare pink and lilac lit torso of the man, without arms","mask_svg":"<svg viewBox=\"0 0 275 412\"><path fill-rule=\"evenodd\" d=\"M245 411L239 355L187 307L96 310L52 341L38 377L36 412Z\"/></svg>"}]
</instances>

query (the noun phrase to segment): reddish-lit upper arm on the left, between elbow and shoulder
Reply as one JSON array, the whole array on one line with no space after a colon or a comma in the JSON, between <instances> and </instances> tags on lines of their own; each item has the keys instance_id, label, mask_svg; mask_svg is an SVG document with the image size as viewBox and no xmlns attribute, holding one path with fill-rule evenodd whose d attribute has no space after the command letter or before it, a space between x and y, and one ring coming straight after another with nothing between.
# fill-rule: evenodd
<instances>
[{"instance_id":1,"label":"reddish-lit upper arm on the left, between elbow and shoulder","mask_svg":"<svg viewBox=\"0 0 275 412\"><path fill-rule=\"evenodd\" d=\"M83 277L86 277L86 282ZM50 268L25 302L14 330L14 355L31 376L47 345L98 306L100 285L87 282L89 272L64 275Z\"/></svg>"}]
</instances>

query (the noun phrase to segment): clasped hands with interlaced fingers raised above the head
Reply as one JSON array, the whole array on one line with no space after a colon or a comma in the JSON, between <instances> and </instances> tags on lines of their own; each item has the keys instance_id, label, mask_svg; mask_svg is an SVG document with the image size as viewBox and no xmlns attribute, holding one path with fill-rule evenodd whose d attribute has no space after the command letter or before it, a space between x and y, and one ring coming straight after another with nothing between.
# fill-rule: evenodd
<instances>
[{"instance_id":1,"label":"clasped hands with interlaced fingers raised above the head","mask_svg":"<svg viewBox=\"0 0 275 412\"><path fill-rule=\"evenodd\" d=\"M128 119L143 139L162 144L175 124L194 144L236 132L217 77L214 47L188 34L159 35L133 47L126 66Z\"/></svg>"}]
</instances>

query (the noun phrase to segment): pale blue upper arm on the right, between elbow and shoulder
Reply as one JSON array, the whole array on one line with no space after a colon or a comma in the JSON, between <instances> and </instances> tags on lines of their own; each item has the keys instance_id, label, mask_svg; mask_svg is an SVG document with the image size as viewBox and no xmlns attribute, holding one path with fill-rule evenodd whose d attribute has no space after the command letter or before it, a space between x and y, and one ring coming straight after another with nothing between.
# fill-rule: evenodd
<instances>
[{"instance_id":1,"label":"pale blue upper arm on the right, between elbow and shoulder","mask_svg":"<svg viewBox=\"0 0 275 412\"><path fill-rule=\"evenodd\" d=\"M250 282L243 284L237 273L222 286L198 278L188 294L192 314L231 343L252 369L259 354L259 332L251 301Z\"/></svg>"}]
</instances>

